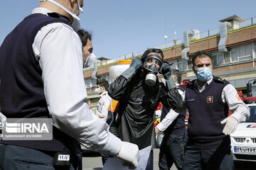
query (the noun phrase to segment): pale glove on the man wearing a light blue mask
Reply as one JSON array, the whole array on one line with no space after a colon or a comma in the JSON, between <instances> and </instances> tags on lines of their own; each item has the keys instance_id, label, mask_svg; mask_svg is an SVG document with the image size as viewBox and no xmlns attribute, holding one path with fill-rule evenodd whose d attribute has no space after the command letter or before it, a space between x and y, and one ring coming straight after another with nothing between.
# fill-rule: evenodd
<instances>
[{"instance_id":1,"label":"pale glove on the man wearing a light blue mask","mask_svg":"<svg viewBox=\"0 0 256 170\"><path fill-rule=\"evenodd\" d=\"M232 116L225 118L220 123L225 123L225 127L223 128L223 133L225 135L230 135L230 133L235 132L235 129L238 127L238 120Z\"/></svg>"}]
</instances>

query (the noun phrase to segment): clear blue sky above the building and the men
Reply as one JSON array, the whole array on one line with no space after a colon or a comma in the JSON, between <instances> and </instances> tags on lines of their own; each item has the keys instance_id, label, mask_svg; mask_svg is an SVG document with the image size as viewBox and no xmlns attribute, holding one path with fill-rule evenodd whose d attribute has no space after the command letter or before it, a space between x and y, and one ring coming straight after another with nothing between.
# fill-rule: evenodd
<instances>
[{"instance_id":1,"label":"clear blue sky above the building and the men","mask_svg":"<svg viewBox=\"0 0 256 170\"><path fill-rule=\"evenodd\" d=\"M1 1L0 44L39 0ZM255 0L84 0L81 27L92 33L97 57L114 58L183 38L187 29L204 32L220 19L256 16ZM167 35L168 38L164 38Z\"/></svg>"}]
</instances>

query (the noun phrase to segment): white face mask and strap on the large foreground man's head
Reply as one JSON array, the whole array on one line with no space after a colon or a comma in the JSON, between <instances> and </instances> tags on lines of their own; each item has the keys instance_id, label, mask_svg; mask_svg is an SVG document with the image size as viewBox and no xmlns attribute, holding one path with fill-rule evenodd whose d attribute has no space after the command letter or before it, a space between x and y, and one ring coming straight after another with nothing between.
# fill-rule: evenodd
<instances>
[{"instance_id":1,"label":"white face mask and strap on the large foreground man's head","mask_svg":"<svg viewBox=\"0 0 256 170\"><path fill-rule=\"evenodd\" d=\"M54 0L40 0L40 1L50 1L51 3L55 4L56 6L62 8L64 11L66 11L67 13L70 14L70 16L73 17L73 23L71 25L71 27L75 30L75 31L78 31L79 28L80 28L80 18L78 18L77 15L75 15L75 13L71 12L68 10L68 8L65 8L65 6L62 6L61 4L58 4L58 2L54 1ZM80 7L79 5L79 0L78 0L78 8L79 10L82 12L82 8ZM79 14L78 14L79 15Z\"/></svg>"}]
</instances>

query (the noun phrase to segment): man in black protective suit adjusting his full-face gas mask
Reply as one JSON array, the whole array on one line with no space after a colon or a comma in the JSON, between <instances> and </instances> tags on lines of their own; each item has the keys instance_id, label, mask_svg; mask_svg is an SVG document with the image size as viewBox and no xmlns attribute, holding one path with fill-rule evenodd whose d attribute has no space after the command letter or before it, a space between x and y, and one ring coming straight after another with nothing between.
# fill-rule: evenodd
<instances>
[{"instance_id":1,"label":"man in black protective suit adjusting his full-face gas mask","mask_svg":"<svg viewBox=\"0 0 256 170\"><path fill-rule=\"evenodd\" d=\"M159 82L160 73L166 86ZM146 50L141 59L134 58L130 67L110 84L109 95L119 101L119 137L139 149L154 145L154 111L159 101L169 108L179 108L182 103L171 77L171 66L156 48Z\"/></svg>"}]
</instances>

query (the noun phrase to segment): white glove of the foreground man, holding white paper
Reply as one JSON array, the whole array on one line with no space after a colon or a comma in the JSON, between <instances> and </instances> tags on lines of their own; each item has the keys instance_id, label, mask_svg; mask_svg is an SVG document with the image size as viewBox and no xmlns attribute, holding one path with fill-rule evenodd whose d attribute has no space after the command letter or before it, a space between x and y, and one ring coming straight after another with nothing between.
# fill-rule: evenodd
<instances>
[{"instance_id":1,"label":"white glove of the foreground man, holding white paper","mask_svg":"<svg viewBox=\"0 0 256 170\"><path fill-rule=\"evenodd\" d=\"M129 166L129 169L135 169L139 161L139 147L129 142L122 142L122 147L117 157L125 161L124 166Z\"/></svg>"}]
</instances>

